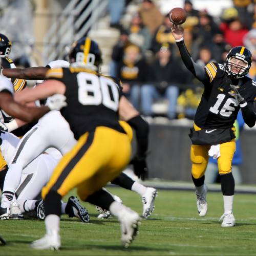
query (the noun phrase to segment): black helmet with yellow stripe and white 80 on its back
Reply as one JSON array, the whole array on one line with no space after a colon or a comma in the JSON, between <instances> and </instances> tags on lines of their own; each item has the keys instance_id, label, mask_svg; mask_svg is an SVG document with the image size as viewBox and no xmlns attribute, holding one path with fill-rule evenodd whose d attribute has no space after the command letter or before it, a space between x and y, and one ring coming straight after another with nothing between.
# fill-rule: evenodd
<instances>
[{"instance_id":1,"label":"black helmet with yellow stripe and white 80 on its back","mask_svg":"<svg viewBox=\"0 0 256 256\"><path fill-rule=\"evenodd\" d=\"M97 68L101 65L101 51L97 42L90 37L82 37L75 41L69 54L71 63L85 63L94 65Z\"/></svg>"}]
</instances>

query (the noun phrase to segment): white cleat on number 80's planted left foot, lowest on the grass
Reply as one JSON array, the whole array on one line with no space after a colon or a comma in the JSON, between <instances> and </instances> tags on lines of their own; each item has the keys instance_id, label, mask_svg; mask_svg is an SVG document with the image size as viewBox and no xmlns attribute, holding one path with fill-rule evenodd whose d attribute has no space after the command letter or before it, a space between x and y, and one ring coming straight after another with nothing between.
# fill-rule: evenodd
<instances>
[{"instance_id":1,"label":"white cleat on number 80's planted left foot, lowest on the grass","mask_svg":"<svg viewBox=\"0 0 256 256\"><path fill-rule=\"evenodd\" d=\"M60 246L60 236L57 230L51 230L43 238L30 244L31 248L38 250L58 250Z\"/></svg>"}]
</instances>

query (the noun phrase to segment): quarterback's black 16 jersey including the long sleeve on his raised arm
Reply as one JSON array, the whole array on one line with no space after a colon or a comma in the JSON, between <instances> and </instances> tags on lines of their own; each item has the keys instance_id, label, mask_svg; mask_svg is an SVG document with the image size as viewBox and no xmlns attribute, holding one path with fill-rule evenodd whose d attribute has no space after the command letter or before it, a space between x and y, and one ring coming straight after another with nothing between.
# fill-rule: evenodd
<instances>
[{"instance_id":1,"label":"quarterback's black 16 jersey including the long sleeve on his raised arm","mask_svg":"<svg viewBox=\"0 0 256 256\"><path fill-rule=\"evenodd\" d=\"M223 65L210 62L204 68L198 65L188 53L184 40L178 41L181 58L187 69L204 84L204 93L195 116L195 124L202 129L229 128L237 119L239 109L245 123L252 127L256 121L253 101L256 97L256 82L244 76L230 79ZM228 94L230 84L237 87L244 103Z\"/></svg>"}]
</instances>

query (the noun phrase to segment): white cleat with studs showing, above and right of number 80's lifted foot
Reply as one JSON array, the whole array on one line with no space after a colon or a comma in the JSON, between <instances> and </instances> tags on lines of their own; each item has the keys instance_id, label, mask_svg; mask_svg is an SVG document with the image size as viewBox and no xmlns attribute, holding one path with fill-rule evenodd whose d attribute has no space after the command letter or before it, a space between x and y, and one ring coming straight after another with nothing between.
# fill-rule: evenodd
<instances>
[{"instance_id":1,"label":"white cleat with studs showing, above and right of number 80's lifted foot","mask_svg":"<svg viewBox=\"0 0 256 256\"><path fill-rule=\"evenodd\" d=\"M155 209L154 201L157 197L157 190L154 187L147 187L146 192L142 196L143 212L142 216L148 218Z\"/></svg>"}]
</instances>

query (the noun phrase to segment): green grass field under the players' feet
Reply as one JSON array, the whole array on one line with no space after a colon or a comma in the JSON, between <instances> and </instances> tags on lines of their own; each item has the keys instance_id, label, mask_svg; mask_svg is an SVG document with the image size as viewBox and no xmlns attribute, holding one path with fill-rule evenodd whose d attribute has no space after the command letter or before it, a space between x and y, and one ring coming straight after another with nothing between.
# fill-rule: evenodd
<instances>
[{"instance_id":1,"label":"green grass field under the players' feet","mask_svg":"<svg viewBox=\"0 0 256 256\"><path fill-rule=\"evenodd\" d=\"M125 205L141 213L141 198L125 189L111 188ZM0 255L255 255L255 195L235 196L234 216L237 226L222 228L222 195L208 193L208 214L197 214L195 195L191 191L160 190L152 217L143 220L140 234L129 247L120 244L120 228L115 218L99 220L95 208L90 224L63 216L62 247L59 251L37 251L29 243L45 233L44 222L37 220L0 221L0 234L7 246Z\"/></svg>"}]
</instances>

